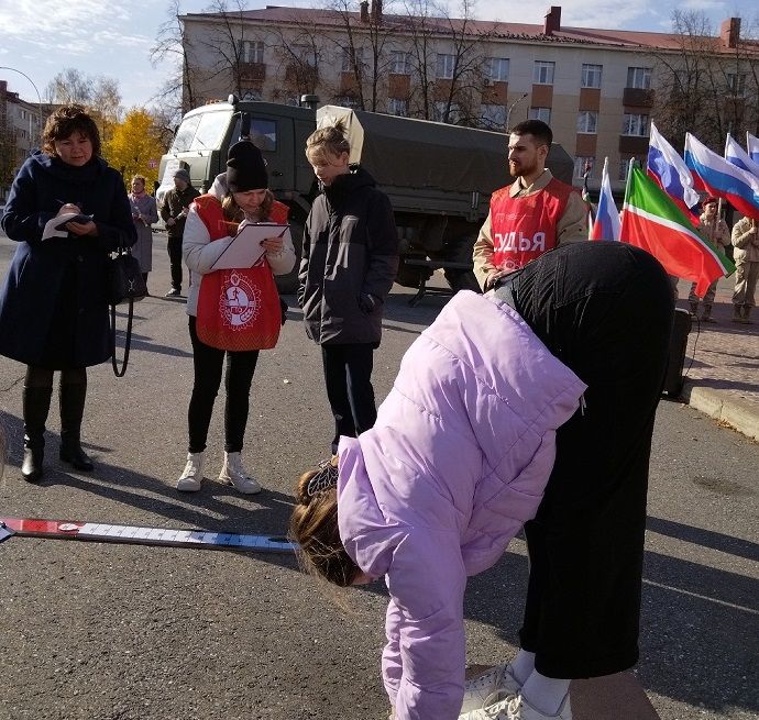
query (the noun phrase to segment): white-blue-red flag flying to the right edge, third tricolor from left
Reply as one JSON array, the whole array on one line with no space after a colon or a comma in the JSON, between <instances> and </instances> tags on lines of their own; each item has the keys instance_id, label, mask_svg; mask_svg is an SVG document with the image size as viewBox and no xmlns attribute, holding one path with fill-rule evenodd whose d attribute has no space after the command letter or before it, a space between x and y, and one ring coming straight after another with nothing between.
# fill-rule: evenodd
<instances>
[{"instance_id":1,"label":"white-blue-red flag flying to the right edge, third tricolor from left","mask_svg":"<svg viewBox=\"0 0 759 720\"><path fill-rule=\"evenodd\" d=\"M719 157L691 133L685 133L685 165L696 185L724 198L747 218L759 220L759 178Z\"/></svg>"}]
</instances>

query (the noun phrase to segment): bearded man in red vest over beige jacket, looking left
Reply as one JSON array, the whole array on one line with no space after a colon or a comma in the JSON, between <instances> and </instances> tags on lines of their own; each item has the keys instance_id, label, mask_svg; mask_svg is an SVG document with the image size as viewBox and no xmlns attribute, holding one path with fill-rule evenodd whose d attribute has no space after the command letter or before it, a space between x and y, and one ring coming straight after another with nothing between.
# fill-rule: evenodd
<instances>
[{"instance_id":1,"label":"bearded man in red vest over beige jacket, looking left","mask_svg":"<svg viewBox=\"0 0 759 720\"><path fill-rule=\"evenodd\" d=\"M512 130L508 169L516 181L496 190L474 244L474 274L483 291L560 244L587 240L587 207L572 186L546 167L553 142L541 120Z\"/></svg>"}]
</instances>

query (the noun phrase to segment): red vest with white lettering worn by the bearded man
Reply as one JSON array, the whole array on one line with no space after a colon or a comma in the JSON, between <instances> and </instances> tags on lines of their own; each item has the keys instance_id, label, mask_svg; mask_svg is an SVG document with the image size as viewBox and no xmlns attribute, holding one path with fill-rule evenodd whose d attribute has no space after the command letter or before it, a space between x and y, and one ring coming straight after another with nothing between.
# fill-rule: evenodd
<instances>
[{"instance_id":1,"label":"red vest with white lettering worn by the bearded man","mask_svg":"<svg viewBox=\"0 0 759 720\"><path fill-rule=\"evenodd\" d=\"M525 198L510 197L509 188L491 197L491 236L493 265L510 273L557 246L557 223L574 190L556 178Z\"/></svg>"}]
</instances>

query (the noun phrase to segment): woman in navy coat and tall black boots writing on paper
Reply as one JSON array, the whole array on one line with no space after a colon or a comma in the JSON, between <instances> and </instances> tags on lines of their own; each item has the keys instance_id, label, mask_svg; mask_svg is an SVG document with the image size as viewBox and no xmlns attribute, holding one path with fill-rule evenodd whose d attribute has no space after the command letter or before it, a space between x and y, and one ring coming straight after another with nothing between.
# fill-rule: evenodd
<instances>
[{"instance_id":1,"label":"woman in navy coat and tall black boots writing on paper","mask_svg":"<svg viewBox=\"0 0 759 720\"><path fill-rule=\"evenodd\" d=\"M85 109L56 110L42 140L2 217L19 246L0 290L0 354L26 365L21 473L29 481L42 477L54 370L61 370L61 459L92 469L80 445L86 368L111 354L108 254L136 241L123 180L99 157L98 128ZM72 212L90 218L66 223L66 236L42 240L50 220Z\"/></svg>"}]
</instances>

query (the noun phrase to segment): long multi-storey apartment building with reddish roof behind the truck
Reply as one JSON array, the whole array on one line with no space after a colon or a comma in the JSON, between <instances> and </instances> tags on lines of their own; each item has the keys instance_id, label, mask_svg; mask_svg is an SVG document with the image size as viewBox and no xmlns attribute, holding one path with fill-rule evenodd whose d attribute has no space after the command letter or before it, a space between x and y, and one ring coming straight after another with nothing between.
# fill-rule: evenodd
<instances>
[{"instance_id":1,"label":"long multi-storey apartment building with reddish roof behind the truck","mask_svg":"<svg viewBox=\"0 0 759 720\"><path fill-rule=\"evenodd\" d=\"M322 103L497 131L539 118L575 158L578 185L590 167L597 187L608 157L617 190L629 159L647 154L657 90L673 92L685 42L564 27L560 7L541 25L386 15L381 0L355 12L267 7L182 21L186 109L230 92L290 104L315 93ZM708 53L734 60L739 32L739 19L726 20ZM725 92L744 102L747 77L750 85L750 74L727 73Z\"/></svg>"}]
</instances>

